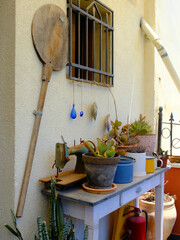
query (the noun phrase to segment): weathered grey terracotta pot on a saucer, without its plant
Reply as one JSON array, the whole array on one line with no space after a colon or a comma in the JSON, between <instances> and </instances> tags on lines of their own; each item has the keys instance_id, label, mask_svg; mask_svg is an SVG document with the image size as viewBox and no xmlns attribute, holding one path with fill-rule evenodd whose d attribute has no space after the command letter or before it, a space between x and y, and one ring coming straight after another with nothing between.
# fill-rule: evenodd
<instances>
[{"instance_id":1,"label":"weathered grey terracotta pot on a saucer, without its plant","mask_svg":"<svg viewBox=\"0 0 180 240\"><path fill-rule=\"evenodd\" d=\"M82 160L87 173L88 187L99 189L112 188L120 156L100 158L87 153L82 155Z\"/></svg>"}]
</instances>

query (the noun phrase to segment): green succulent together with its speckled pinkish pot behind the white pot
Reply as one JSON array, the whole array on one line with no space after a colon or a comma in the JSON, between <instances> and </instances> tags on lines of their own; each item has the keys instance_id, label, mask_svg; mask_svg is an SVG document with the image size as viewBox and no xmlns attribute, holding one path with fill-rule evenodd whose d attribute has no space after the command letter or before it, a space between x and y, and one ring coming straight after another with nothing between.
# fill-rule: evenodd
<instances>
[{"instance_id":1,"label":"green succulent together with its speckled pinkish pot behind the white pot","mask_svg":"<svg viewBox=\"0 0 180 240\"><path fill-rule=\"evenodd\" d=\"M140 114L139 119L130 125L129 134L139 140L138 146L146 149L146 155L152 156L156 147L156 134L152 134L145 116Z\"/></svg>"}]
</instances>

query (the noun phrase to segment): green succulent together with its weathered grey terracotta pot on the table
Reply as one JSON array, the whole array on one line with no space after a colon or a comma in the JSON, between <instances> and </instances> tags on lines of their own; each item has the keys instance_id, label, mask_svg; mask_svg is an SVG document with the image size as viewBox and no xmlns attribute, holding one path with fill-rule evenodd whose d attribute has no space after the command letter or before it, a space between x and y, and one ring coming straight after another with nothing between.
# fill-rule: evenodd
<instances>
[{"instance_id":1,"label":"green succulent together with its weathered grey terracotta pot on the table","mask_svg":"<svg viewBox=\"0 0 180 240\"><path fill-rule=\"evenodd\" d=\"M82 155L85 171L87 173L87 186L93 189L110 189L120 156L115 151L113 139L104 142L97 138L97 147L94 149L83 141L89 153Z\"/></svg>"}]
</instances>

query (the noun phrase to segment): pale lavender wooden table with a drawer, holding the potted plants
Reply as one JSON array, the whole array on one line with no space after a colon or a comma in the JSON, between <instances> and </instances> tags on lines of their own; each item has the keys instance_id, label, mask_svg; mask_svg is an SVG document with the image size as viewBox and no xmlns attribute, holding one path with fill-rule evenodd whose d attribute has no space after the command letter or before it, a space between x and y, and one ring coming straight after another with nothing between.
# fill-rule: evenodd
<instances>
[{"instance_id":1,"label":"pale lavender wooden table with a drawer, holding the potted plants","mask_svg":"<svg viewBox=\"0 0 180 240\"><path fill-rule=\"evenodd\" d=\"M140 195L155 187L156 239L163 239L163 194L164 173L167 168L155 170L152 174L134 178L133 182L117 184L117 189L109 194L92 194L81 187L58 191L64 213L76 219L84 220L89 229L89 240L99 240L99 220L124 204L138 199ZM47 191L46 191L47 193Z\"/></svg>"}]
</instances>

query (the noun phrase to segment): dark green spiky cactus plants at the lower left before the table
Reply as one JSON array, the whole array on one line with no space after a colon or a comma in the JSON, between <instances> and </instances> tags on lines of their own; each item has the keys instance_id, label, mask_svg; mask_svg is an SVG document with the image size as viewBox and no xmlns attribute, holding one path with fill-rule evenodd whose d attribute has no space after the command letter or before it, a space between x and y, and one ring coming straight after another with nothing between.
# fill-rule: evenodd
<instances>
[{"instance_id":1,"label":"dark green spiky cactus plants at the lower left before the table","mask_svg":"<svg viewBox=\"0 0 180 240\"><path fill-rule=\"evenodd\" d=\"M23 240L22 234L17 228L16 217L11 210L11 216L15 229L8 224L4 226L19 240ZM38 235L34 240L75 240L74 225L70 217L64 220L64 211L61 201L56 196L56 179L51 179L51 195L49 197L49 230L41 217L37 218ZM88 228L85 227L84 239L88 239Z\"/></svg>"}]
</instances>

